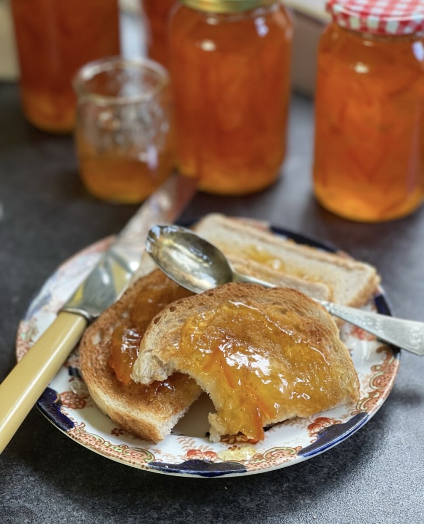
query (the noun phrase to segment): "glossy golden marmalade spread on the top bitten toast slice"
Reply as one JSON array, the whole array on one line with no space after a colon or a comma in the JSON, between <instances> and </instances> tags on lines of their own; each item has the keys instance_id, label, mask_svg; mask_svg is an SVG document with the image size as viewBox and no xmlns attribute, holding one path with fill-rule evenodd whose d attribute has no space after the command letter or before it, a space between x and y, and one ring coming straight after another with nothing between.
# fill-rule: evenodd
<instances>
[{"instance_id":1,"label":"glossy golden marmalade spread on the top bitten toast slice","mask_svg":"<svg viewBox=\"0 0 424 524\"><path fill-rule=\"evenodd\" d=\"M281 305L264 312L227 301L187 318L174 362L210 392L229 434L263 439L267 421L309 416L345 398L331 336L314 319L281 314Z\"/></svg>"}]
</instances>

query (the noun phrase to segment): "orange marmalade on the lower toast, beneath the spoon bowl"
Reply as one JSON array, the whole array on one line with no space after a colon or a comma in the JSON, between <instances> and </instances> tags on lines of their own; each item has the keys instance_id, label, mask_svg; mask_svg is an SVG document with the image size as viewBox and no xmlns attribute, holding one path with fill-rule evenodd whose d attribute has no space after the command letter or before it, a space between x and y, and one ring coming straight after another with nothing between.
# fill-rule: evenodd
<instances>
[{"instance_id":1,"label":"orange marmalade on the lower toast, beneath the spoon bowl","mask_svg":"<svg viewBox=\"0 0 424 524\"><path fill-rule=\"evenodd\" d=\"M137 293L128 315L115 328L111 337L109 364L118 380L131 384L131 372L138 356L138 348L151 319L166 305L192 295L190 291L167 278L158 270L153 286Z\"/></svg>"}]
</instances>

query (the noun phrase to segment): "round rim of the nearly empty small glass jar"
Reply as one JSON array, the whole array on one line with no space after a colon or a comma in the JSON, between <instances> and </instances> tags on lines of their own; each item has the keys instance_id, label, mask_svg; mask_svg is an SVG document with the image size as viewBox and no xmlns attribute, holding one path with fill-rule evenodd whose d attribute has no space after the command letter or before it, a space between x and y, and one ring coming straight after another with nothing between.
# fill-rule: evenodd
<instances>
[{"instance_id":1,"label":"round rim of the nearly empty small glass jar","mask_svg":"<svg viewBox=\"0 0 424 524\"><path fill-rule=\"evenodd\" d=\"M93 80L96 75L119 70L125 71L131 68L153 72L157 77L157 82L151 89L142 90L131 95L105 95L95 90L90 90L87 86L87 83ZM113 56L84 64L74 75L72 85L79 99L89 99L99 105L124 105L152 100L169 85L169 73L163 65L148 58Z\"/></svg>"}]
</instances>

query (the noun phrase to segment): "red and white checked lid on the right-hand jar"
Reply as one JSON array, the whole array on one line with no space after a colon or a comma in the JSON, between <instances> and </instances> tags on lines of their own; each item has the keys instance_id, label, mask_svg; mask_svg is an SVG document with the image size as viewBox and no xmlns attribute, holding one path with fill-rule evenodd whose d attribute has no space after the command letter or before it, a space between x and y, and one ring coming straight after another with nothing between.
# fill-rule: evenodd
<instances>
[{"instance_id":1,"label":"red and white checked lid on the right-hand jar","mask_svg":"<svg viewBox=\"0 0 424 524\"><path fill-rule=\"evenodd\" d=\"M424 0L328 0L336 24L375 35L424 31Z\"/></svg>"}]
</instances>

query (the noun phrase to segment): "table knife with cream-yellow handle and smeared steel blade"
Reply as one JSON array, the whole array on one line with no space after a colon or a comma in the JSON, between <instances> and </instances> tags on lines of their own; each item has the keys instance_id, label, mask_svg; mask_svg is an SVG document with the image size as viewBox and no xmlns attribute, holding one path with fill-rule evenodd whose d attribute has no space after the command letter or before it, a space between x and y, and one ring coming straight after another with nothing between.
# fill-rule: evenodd
<instances>
[{"instance_id":1,"label":"table knife with cream-yellow handle and smeared steel blade","mask_svg":"<svg viewBox=\"0 0 424 524\"><path fill-rule=\"evenodd\" d=\"M0 384L0 453L77 345L88 323L127 288L139 267L150 226L174 222L194 195L195 185L194 179L172 174L140 206L56 320Z\"/></svg>"}]
</instances>

